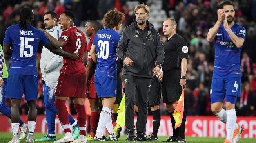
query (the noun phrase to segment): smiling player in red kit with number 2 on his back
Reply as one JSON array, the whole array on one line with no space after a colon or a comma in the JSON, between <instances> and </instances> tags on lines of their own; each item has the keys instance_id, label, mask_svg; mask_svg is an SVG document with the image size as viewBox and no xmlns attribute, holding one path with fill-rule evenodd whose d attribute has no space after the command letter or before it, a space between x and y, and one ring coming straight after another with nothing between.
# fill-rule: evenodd
<instances>
[{"instance_id":1,"label":"smiling player in red kit with number 2 on his back","mask_svg":"<svg viewBox=\"0 0 256 143\"><path fill-rule=\"evenodd\" d=\"M86 139L86 113L84 107L84 98L86 91L86 73L83 63L83 54L86 47L85 35L81 30L74 26L75 15L72 11L64 11L60 15L60 29L63 31L60 38L57 40L51 36L47 31L45 35L50 43L55 48L60 48L67 52L75 52L80 56L76 61L71 61L63 57L63 67L56 85L56 100L55 106L58 110L58 117L65 135L63 138L54 141L54 143L72 142L73 143L87 143ZM74 108L77 112L78 126L80 129L80 136L73 140L70 125L69 115L65 102L68 97L73 97Z\"/></svg>"}]
</instances>

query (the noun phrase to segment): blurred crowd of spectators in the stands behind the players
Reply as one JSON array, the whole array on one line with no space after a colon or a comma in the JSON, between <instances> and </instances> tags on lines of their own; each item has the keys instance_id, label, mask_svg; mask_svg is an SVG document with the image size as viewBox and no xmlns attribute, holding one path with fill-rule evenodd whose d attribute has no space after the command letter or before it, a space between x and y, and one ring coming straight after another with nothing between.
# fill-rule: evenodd
<instances>
[{"instance_id":1,"label":"blurred crowd of spectators in the stands behind the players","mask_svg":"<svg viewBox=\"0 0 256 143\"><path fill-rule=\"evenodd\" d=\"M156 3L160 1L161 3ZM174 18L178 23L178 31L189 44L189 60L187 65L187 87L185 88L185 111L187 115L212 115L210 102L210 86L214 68L213 43L206 40L207 32L217 19L216 9L221 0L140 0L137 4L145 3L151 7L161 5L166 18ZM255 116L256 110L256 0L233 0L235 4L235 21L247 30L241 56L242 93L236 103L238 116ZM65 10L71 10L76 15L75 25L84 31L85 22L91 19L102 20L104 14L116 8L125 13L122 29L130 25L135 19L131 1L126 0L3 0L0 3L0 43L2 45L5 30L10 25L18 23L20 9L31 7L34 11L34 27L44 28L43 16L47 11L55 11L58 16ZM151 8L150 7L150 8ZM152 9L152 8L151 8ZM253 13L254 12L254 13ZM151 16L151 13L149 13ZM151 19L150 19L151 20ZM162 22L165 19L162 19ZM163 35L162 22L158 24L158 32L162 41L167 38ZM88 40L88 38L87 38ZM42 48L41 48L42 50ZM10 57L5 55L7 66ZM86 58L85 58L86 59ZM85 65L86 65L85 61ZM38 67L38 114L44 114L42 96L42 75L40 73L40 50L37 54ZM8 99L7 99L8 100ZM88 103L88 102L87 102ZM7 102L7 105L10 103ZM72 100L68 102L72 104ZM21 114L27 114L28 107L22 100ZM76 114L70 106L71 114ZM149 114L151 111L149 111ZM168 115L165 104L160 103L161 115Z\"/></svg>"}]
</instances>

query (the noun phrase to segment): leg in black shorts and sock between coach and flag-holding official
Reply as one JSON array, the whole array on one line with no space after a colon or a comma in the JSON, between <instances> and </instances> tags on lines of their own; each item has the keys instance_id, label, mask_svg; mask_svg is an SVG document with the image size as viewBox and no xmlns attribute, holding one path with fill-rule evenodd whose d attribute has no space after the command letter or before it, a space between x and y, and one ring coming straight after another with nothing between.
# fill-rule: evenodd
<instances>
[{"instance_id":1,"label":"leg in black shorts and sock between coach and flag-holding official","mask_svg":"<svg viewBox=\"0 0 256 143\"><path fill-rule=\"evenodd\" d=\"M156 77L153 77L153 79L151 80L151 86L149 91L149 106L151 107L151 112L153 115L153 132L151 136L148 138L149 141L158 141L157 132L161 122L159 109L161 90L161 82L159 82Z\"/></svg>"}]
</instances>

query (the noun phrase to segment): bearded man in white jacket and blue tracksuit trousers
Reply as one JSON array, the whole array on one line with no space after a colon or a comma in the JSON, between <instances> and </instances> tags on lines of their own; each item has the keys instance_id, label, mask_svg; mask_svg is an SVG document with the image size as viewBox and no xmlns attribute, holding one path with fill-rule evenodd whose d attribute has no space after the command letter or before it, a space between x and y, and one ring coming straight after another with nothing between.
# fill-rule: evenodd
<instances>
[{"instance_id":1,"label":"bearded man in white jacket and blue tracksuit trousers","mask_svg":"<svg viewBox=\"0 0 256 143\"><path fill-rule=\"evenodd\" d=\"M44 14L44 25L47 32L54 38L59 39L62 30L60 25L57 25L58 15L53 11ZM62 56L55 55L47 48L43 47L40 66L42 73L42 82L44 87L44 107L46 114L46 122L48 134L44 138L36 139L35 141L56 141L55 137L55 117L58 111L54 105L55 101L55 88L58 77L60 76L59 70L63 66ZM73 139L79 136L79 128L76 120L69 114L69 123L73 129Z\"/></svg>"}]
</instances>

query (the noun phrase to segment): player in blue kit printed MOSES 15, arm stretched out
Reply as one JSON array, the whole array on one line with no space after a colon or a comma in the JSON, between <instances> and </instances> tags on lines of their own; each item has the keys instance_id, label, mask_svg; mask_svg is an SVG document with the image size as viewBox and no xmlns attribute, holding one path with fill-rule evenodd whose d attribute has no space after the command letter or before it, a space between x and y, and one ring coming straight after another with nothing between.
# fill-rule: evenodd
<instances>
[{"instance_id":1,"label":"player in blue kit printed MOSES 15, arm stretched out","mask_svg":"<svg viewBox=\"0 0 256 143\"><path fill-rule=\"evenodd\" d=\"M67 53L60 48L54 48L45 34L31 26L34 13L30 8L20 11L20 21L17 25L7 28L4 38L4 53L11 54L11 67L6 85L6 98L11 98L11 128L13 139L9 143L19 143L18 129L20 120L20 100L23 93L29 107L27 143L34 143L33 133L36 127L36 98L38 93L38 78L36 69L36 51L41 42L54 54L70 59L77 59L78 54ZM12 49L11 49L12 46Z\"/></svg>"}]
</instances>

